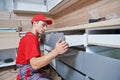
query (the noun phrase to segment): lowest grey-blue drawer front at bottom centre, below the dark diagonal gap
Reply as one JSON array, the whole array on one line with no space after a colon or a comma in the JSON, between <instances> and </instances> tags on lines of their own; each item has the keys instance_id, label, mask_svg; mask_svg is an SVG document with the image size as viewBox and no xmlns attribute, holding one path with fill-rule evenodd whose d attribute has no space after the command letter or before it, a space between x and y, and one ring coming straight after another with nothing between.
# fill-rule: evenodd
<instances>
[{"instance_id":1,"label":"lowest grey-blue drawer front at bottom centre, below the dark diagonal gap","mask_svg":"<svg viewBox=\"0 0 120 80\"><path fill-rule=\"evenodd\" d=\"M64 78L64 80L85 80L85 77L76 72L69 66L57 60L57 72Z\"/></svg>"}]
</instances>

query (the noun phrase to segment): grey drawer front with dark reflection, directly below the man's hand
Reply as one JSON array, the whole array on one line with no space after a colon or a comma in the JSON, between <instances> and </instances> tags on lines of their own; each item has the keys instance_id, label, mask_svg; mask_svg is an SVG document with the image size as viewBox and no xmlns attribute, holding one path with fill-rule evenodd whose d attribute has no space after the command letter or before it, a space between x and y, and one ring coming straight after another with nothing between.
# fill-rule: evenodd
<instances>
[{"instance_id":1,"label":"grey drawer front with dark reflection, directly below the man's hand","mask_svg":"<svg viewBox=\"0 0 120 80\"><path fill-rule=\"evenodd\" d=\"M71 49L68 50L66 54L66 56L62 56L59 59L77 71L84 73L84 53L79 50Z\"/></svg>"}]
</instances>

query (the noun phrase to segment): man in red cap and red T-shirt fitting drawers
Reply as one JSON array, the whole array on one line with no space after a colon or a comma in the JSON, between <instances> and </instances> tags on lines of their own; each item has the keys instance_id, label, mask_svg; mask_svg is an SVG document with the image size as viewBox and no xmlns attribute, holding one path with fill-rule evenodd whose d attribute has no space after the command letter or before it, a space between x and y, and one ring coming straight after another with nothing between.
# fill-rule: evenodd
<instances>
[{"instance_id":1,"label":"man in red cap and red T-shirt fitting drawers","mask_svg":"<svg viewBox=\"0 0 120 80\"><path fill-rule=\"evenodd\" d=\"M68 44L59 39L51 52L41 56L38 35L43 34L47 25L51 25L53 21L47 19L43 14L36 14L31 23L31 31L21 38L18 47L16 57L17 80L51 80L44 71L41 71L41 68L48 65L57 55L64 54L68 50Z\"/></svg>"}]
</instances>

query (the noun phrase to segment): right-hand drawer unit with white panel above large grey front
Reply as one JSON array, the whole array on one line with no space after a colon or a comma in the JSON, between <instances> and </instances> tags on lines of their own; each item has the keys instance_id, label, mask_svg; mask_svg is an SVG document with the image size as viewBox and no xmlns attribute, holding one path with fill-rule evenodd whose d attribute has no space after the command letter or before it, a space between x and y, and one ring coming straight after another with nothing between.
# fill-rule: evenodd
<instances>
[{"instance_id":1,"label":"right-hand drawer unit with white panel above large grey front","mask_svg":"<svg viewBox=\"0 0 120 80\"><path fill-rule=\"evenodd\" d=\"M119 31L119 26L86 29L88 46L84 58L87 76L94 80L120 79Z\"/></svg>"}]
</instances>

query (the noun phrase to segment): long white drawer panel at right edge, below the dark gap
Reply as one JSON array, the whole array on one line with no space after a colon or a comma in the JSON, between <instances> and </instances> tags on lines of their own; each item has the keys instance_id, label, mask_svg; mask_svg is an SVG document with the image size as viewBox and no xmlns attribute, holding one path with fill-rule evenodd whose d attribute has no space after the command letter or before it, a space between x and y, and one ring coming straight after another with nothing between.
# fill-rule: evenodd
<instances>
[{"instance_id":1,"label":"long white drawer panel at right edge, below the dark gap","mask_svg":"<svg viewBox=\"0 0 120 80\"><path fill-rule=\"evenodd\" d=\"M120 34L91 34L88 44L120 48Z\"/></svg>"}]
</instances>

